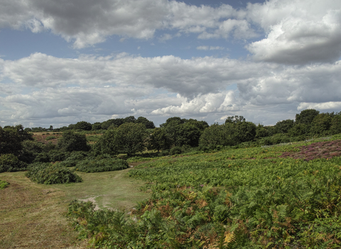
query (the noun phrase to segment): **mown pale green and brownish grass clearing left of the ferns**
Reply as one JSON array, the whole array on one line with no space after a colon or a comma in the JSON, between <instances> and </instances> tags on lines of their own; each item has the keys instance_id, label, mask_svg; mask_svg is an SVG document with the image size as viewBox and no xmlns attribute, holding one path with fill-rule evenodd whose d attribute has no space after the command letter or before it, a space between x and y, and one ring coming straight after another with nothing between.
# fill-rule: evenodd
<instances>
[{"instance_id":1,"label":"mown pale green and brownish grass clearing left of the ferns","mask_svg":"<svg viewBox=\"0 0 341 249\"><path fill-rule=\"evenodd\" d=\"M72 199L93 198L99 208L131 208L148 194L143 182L127 171L86 174L80 184L43 185L29 181L24 172L2 173L10 183L0 190L0 248L86 248L76 245L65 212Z\"/></svg>"}]
</instances>

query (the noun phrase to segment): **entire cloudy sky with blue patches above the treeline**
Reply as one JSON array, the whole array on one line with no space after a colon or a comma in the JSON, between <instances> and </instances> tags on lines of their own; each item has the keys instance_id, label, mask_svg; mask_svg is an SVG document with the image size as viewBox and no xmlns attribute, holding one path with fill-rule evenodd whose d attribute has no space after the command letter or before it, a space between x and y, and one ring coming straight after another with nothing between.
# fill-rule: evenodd
<instances>
[{"instance_id":1,"label":"entire cloudy sky with blue patches above the treeline","mask_svg":"<svg viewBox=\"0 0 341 249\"><path fill-rule=\"evenodd\" d=\"M341 111L340 0L1 0L0 126Z\"/></svg>"}]
</instances>

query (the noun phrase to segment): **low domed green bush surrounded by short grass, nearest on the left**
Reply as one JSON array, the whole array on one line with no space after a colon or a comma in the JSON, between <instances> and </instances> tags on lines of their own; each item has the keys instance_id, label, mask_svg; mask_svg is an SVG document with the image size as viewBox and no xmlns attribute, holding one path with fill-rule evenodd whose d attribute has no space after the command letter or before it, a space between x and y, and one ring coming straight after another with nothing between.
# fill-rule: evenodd
<instances>
[{"instance_id":1,"label":"low domed green bush surrounded by short grass, nearest on the left","mask_svg":"<svg viewBox=\"0 0 341 249\"><path fill-rule=\"evenodd\" d=\"M82 182L82 178L60 164L34 163L28 166L26 176L38 184L68 184Z\"/></svg>"}]
</instances>

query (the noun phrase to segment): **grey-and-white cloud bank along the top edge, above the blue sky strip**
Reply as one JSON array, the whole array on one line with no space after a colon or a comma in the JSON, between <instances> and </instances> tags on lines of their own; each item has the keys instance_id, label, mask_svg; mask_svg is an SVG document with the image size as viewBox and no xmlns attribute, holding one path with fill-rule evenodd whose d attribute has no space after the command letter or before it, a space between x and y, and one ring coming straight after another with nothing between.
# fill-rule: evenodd
<instances>
[{"instance_id":1,"label":"grey-and-white cloud bank along the top edge, above the blue sky strip","mask_svg":"<svg viewBox=\"0 0 341 249\"><path fill-rule=\"evenodd\" d=\"M73 42L75 48L101 43L108 36L153 38L156 30L198 33L200 37L247 38L252 29L245 13L227 4L217 8L166 0L5 0L0 28L50 30ZM227 20L227 21L224 21ZM218 30L213 34L208 29ZM173 36L165 34L161 41Z\"/></svg>"}]
</instances>

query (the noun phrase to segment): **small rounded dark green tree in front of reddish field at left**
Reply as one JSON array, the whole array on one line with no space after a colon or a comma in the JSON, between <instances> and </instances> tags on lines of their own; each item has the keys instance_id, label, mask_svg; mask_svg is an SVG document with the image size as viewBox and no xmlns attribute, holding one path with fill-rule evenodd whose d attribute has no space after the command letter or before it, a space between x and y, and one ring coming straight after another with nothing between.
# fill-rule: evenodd
<instances>
[{"instance_id":1,"label":"small rounded dark green tree in front of reddish field at left","mask_svg":"<svg viewBox=\"0 0 341 249\"><path fill-rule=\"evenodd\" d=\"M71 130L63 132L63 137L58 141L57 147L65 152L87 152L90 149L87 146L85 134L79 134Z\"/></svg>"}]
</instances>

